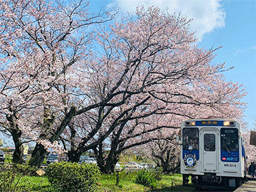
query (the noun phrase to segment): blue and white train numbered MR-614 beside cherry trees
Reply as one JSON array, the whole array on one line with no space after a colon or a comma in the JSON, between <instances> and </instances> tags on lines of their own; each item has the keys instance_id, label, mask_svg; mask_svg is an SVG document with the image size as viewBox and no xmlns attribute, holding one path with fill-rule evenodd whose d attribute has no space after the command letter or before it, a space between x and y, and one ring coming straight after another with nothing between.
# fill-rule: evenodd
<instances>
[{"instance_id":1,"label":"blue and white train numbered MR-614 beside cherry trees","mask_svg":"<svg viewBox=\"0 0 256 192\"><path fill-rule=\"evenodd\" d=\"M183 186L225 189L241 186L246 179L241 125L236 120L191 119L181 124ZM190 181L190 182L189 182Z\"/></svg>"}]
</instances>

